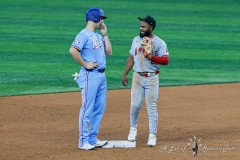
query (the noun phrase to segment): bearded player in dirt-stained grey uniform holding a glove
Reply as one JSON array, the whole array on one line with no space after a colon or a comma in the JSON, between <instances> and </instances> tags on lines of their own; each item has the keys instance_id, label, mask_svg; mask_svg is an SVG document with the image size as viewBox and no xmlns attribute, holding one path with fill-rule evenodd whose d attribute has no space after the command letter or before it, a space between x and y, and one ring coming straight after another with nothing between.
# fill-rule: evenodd
<instances>
[{"instance_id":1,"label":"bearded player in dirt-stained grey uniform holding a glove","mask_svg":"<svg viewBox=\"0 0 240 160\"><path fill-rule=\"evenodd\" d=\"M136 140L139 111L145 96L149 119L147 145L154 147L157 144L159 70L160 65L169 63L169 52L166 43L153 34L156 26L155 19L151 16L138 17L138 19L140 20L140 35L133 39L130 55L122 75L122 83L126 86L128 85L127 74L131 69L134 71L128 140Z\"/></svg>"}]
</instances>

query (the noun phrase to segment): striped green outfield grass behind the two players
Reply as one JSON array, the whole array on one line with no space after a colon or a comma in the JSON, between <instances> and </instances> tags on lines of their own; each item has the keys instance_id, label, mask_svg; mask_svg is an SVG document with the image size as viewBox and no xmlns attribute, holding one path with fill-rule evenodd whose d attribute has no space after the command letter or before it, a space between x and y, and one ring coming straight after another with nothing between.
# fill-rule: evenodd
<instances>
[{"instance_id":1,"label":"striped green outfield grass behind the two players","mask_svg":"<svg viewBox=\"0 0 240 160\"><path fill-rule=\"evenodd\" d=\"M78 91L71 74L79 66L68 50L90 7L108 16L109 89L130 88L121 85L121 75L139 34L137 17L147 14L156 18L154 33L170 52L160 86L240 82L239 0L5 0L0 5L0 96Z\"/></svg>"}]
</instances>

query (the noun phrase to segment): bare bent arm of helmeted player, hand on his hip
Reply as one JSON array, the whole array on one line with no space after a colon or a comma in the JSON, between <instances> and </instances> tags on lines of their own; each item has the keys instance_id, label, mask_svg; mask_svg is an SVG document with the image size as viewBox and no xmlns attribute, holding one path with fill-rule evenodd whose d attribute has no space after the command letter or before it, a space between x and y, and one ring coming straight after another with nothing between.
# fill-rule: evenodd
<instances>
[{"instance_id":1,"label":"bare bent arm of helmeted player, hand on his hip","mask_svg":"<svg viewBox=\"0 0 240 160\"><path fill-rule=\"evenodd\" d=\"M97 63L95 62L85 62L82 59L82 56L79 52L79 50L77 48L75 48L74 46L71 46L70 50L69 50L70 54L72 55L73 59L80 64L81 66L83 66L86 69L93 69L95 67L98 66Z\"/></svg>"}]
</instances>

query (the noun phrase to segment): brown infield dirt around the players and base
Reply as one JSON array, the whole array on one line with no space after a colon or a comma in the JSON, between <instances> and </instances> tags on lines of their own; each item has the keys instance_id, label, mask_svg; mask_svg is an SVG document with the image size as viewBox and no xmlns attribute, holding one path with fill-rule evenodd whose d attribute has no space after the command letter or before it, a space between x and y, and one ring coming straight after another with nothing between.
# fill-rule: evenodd
<instances>
[{"instance_id":1,"label":"brown infield dirt around the players and base","mask_svg":"<svg viewBox=\"0 0 240 160\"><path fill-rule=\"evenodd\" d=\"M240 83L161 87L157 146L147 147L143 102L136 148L77 148L80 92L0 97L1 160L239 160ZM99 139L126 140L130 90L110 90ZM201 139L200 139L201 138Z\"/></svg>"}]
</instances>

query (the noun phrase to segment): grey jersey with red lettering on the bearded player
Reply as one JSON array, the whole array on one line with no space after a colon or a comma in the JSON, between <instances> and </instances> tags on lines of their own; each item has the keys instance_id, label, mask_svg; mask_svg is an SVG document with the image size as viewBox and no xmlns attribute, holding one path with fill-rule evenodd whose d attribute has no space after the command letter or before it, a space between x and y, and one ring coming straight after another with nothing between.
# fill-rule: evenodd
<instances>
[{"instance_id":1,"label":"grey jersey with red lettering on the bearded player","mask_svg":"<svg viewBox=\"0 0 240 160\"><path fill-rule=\"evenodd\" d=\"M133 39L132 46L130 49L130 54L134 58L133 70L135 72L155 72L159 70L160 65L151 62L149 59L144 57L143 48L141 47L142 38L136 36ZM153 35L152 37L153 51L152 55L161 57L164 55L169 55L166 43L159 37Z\"/></svg>"}]
</instances>

